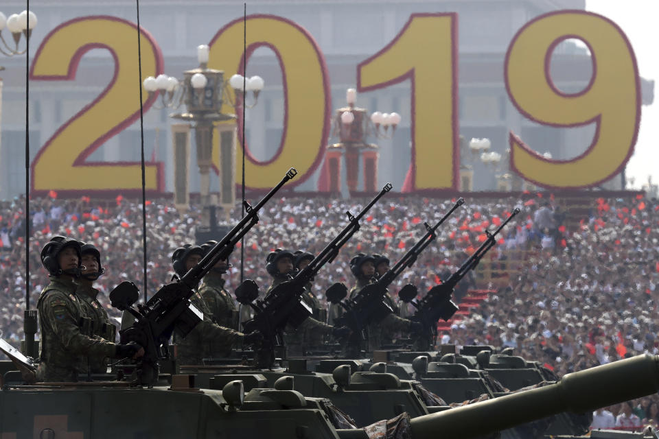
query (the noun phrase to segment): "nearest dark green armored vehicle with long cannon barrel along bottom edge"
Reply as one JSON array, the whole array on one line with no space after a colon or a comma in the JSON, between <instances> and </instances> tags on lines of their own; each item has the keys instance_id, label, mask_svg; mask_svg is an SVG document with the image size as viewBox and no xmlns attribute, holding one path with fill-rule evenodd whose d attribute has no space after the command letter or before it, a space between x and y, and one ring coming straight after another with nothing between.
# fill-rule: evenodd
<instances>
[{"instance_id":1,"label":"nearest dark green armored vehicle with long cannon barrel along bottom edge","mask_svg":"<svg viewBox=\"0 0 659 439\"><path fill-rule=\"evenodd\" d=\"M5 385L0 434L8 438L476 438L560 412L584 413L659 390L659 357L638 355L568 374L556 383L434 414L407 414L350 428L327 399L302 396L294 379L277 389L229 381L222 390L119 381ZM337 428L338 426L338 428ZM378 436L378 434L380 436Z\"/></svg>"}]
</instances>

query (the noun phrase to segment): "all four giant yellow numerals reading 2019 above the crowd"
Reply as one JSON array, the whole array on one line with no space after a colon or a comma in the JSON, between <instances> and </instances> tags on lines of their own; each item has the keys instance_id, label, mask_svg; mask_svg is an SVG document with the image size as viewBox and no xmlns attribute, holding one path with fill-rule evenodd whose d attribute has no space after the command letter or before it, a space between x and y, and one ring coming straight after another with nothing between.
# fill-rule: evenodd
<instances>
[{"instance_id":1,"label":"all four giant yellow numerals reading 2019 above the crowd","mask_svg":"<svg viewBox=\"0 0 659 439\"><path fill-rule=\"evenodd\" d=\"M211 40L209 67L229 69L227 77L242 73L242 57L259 46L269 47L279 60L285 98L279 150L265 162L247 152L246 183L253 189L269 188L290 166L299 169L301 182L319 165L327 144L331 98L325 58L312 36L287 19L253 15L246 25L247 53L241 44L242 20L233 21ZM141 187L137 163L86 160L139 116L136 33L135 25L122 19L92 16L64 23L45 38L32 79L72 80L80 57L97 47L113 54L115 75L100 97L41 149L32 165L35 191ZM142 77L157 75L162 70L159 47L146 32L140 38ZM586 41L596 67L586 91L573 95L558 91L548 73L553 49L566 38ZM413 14L389 45L358 66L361 91L410 80L412 161L403 191L457 189L456 47L455 14ZM553 126L597 123L588 150L570 161L547 160L511 133L511 167L522 177L545 187L595 185L611 178L632 154L640 120L638 69L625 35L608 19L578 11L534 19L513 38L504 75L513 104L530 119ZM145 108L150 104L145 99ZM160 165L147 165L146 186L164 189Z\"/></svg>"}]
</instances>

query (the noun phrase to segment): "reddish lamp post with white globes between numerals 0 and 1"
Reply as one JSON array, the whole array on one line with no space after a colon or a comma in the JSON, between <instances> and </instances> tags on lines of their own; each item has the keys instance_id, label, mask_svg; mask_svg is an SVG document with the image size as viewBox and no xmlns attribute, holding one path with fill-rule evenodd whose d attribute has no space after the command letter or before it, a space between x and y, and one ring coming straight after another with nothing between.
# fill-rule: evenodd
<instances>
[{"instance_id":1,"label":"reddish lamp post with white globes between numerals 0 and 1","mask_svg":"<svg viewBox=\"0 0 659 439\"><path fill-rule=\"evenodd\" d=\"M364 191L374 192L378 186L378 145L367 143L367 137L391 139L401 117L395 112L380 111L368 115L365 108L355 105L357 91L354 88L348 88L345 97L347 106L338 108L332 118L332 137L338 137L339 143L327 147L327 187L330 192L340 191L340 163L345 155L347 186L349 191L357 191L361 156Z\"/></svg>"}]
</instances>

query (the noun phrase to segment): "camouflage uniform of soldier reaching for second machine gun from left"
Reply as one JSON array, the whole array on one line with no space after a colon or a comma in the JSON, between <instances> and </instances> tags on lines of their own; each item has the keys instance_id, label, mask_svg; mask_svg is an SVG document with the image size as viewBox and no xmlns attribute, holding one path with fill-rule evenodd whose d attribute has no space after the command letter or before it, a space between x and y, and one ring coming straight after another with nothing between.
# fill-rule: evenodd
<instances>
[{"instance_id":1,"label":"camouflage uniform of soldier reaching for second machine gun from left","mask_svg":"<svg viewBox=\"0 0 659 439\"><path fill-rule=\"evenodd\" d=\"M231 346L242 342L243 335L213 323L211 310L199 292L195 292L190 301L203 313L204 320L185 338L174 333L174 342L178 344L178 364L198 365L203 364L205 358L227 357L231 353Z\"/></svg>"}]
</instances>

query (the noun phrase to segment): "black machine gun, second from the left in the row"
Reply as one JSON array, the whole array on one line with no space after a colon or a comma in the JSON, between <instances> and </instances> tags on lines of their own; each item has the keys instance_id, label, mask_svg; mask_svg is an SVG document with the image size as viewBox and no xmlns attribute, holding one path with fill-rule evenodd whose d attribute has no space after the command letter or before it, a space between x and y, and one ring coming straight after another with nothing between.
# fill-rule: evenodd
<instances>
[{"instance_id":1,"label":"black machine gun, second from the left in the row","mask_svg":"<svg viewBox=\"0 0 659 439\"><path fill-rule=\"evenodd\" d=\"M308 305L301 301L305 285L316 276L323 265L334 260L338 250L359 230L359 220L373 207L375 202L380 200L382 195L391 191L391 187L390 183L384 185L382 191L375 195L375 198L357 216L353 216L349 211L346 212L349 223L332 239L332 242L327 244L318 256L303 270L297 272L294 277L274 287L263 300L253 302L258 295L258 286L254 281L244 281L235 290L238 301L243 305L250 305L255 311L254 318L244 323L246 331L258 330L264 335L263 345L258 350L257 366L260 368L273 366L275 348L284 346L282 331L286 324L297 328L312 313Z\"/></svg>"}]
</instances>

